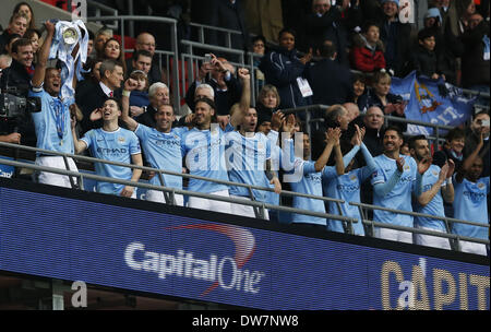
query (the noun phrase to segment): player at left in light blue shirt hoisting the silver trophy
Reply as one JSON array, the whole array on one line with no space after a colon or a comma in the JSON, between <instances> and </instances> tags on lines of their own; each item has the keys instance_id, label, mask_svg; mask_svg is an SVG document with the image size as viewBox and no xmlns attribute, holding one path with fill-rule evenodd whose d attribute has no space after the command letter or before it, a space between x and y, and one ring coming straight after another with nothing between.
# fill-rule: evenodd
<instances>
[{"instance_id":1,"label":"player at left in light blue shirt hoisting the silver trophy","mask_svg":"<svg viewBox=\"0 0 491 332\"><path fill-rule=\"evenodd\" d=\"M64 99L60 97L62 86L60 71L56 68L47 68L49 49L55 35L55 24L48 21L45 25L48 35L40 49L39 62L34 71L32 90L29 91L29 97L39 97L41 100L40 111L32 114L37 135L37 147L73 154L70 106L75 100L73 96ZM73 84L75 84L75 79L76 75ZM77 171L73 159L67 159L68 164L62 156L38 154L36 165ZM68 176L47 171L37 174L37 180L40 183L65 188L72 188L76 182L75 178L71 179Z\"/></svg>"}]
</instances>

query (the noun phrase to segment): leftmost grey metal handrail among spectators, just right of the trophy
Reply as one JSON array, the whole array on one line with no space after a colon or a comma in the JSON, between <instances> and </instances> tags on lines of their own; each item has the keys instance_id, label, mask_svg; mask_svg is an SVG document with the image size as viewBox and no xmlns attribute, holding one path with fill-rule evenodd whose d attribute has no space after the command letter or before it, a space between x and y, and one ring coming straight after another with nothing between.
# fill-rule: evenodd
<instances>
[{"instance_id":1,"label":"leftmost grey metal handrail among spectators, just right of the trophy","mask_svg":"<svg viewBox=\"0 0 491 332\"><path fill-rule=\"evenodd\" d=\"M172 94L173 108L180 109L181 94L179 90L179 64L178 64L178 37L177 37L177 21L168 17L155 17L155 16L99 16L99 17L87 17L87 21L119 21L120 22L120 34L121 34L121 48L124 52L133 51L128 49L124 45L124 22L144 21L144 22L155 22L159 24L170 25L170 50L156 50L155 54L159 56L159 64L161 64L161 56L166 56L166 63L170 66L170 60L173 60L171 71L169 72L169 67L167 67L169 88Z\"/></svg>"}]
</instances>

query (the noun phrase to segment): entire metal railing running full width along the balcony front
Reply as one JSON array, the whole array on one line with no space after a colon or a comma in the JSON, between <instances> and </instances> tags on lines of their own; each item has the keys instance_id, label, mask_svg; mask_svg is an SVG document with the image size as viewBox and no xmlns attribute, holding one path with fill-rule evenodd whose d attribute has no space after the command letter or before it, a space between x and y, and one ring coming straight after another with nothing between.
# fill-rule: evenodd
<instances>
[{"instance_id":1,"label":"entire metal railing running full width along the balcony front","mask_svg":"<svg viewBox=\"0 0 491 332\"><path fill-rule=\"evenodd\" d=\"M93 179L96 181L113 182L113 183L119 183L119 185L124 185L124 186L140 187L140 188L145 188L145 189L151 189L151 190L158 190L164 193L164 198L165 198L165 201L167 204L176 204L176 201L175 201L176 194L197 197L197 198L203 198L203 199L209 199L209 200L216 200L216 201L223 201L223 202L228 202L228 203L252 206L254 209L254 213L258 218L263 218L265 215L265 210L268 209L268 210L275 210L275 211L287 212L287 213L297 213L297 214L303 214L303 215L328 218L328 220L337 220L343 223L343 227L345 229L345 233L347 233L347 234L354 234L352 223L358 223L358 216L350 217L350 216L344 216L344 215L337 215L337 214L312 212L309 210L301 210L301 209L295 209L295 208L289 208L289 206L284 206L284 205L275 205L275 204L255 201L254 197L252 194L252 190L255 189L255 190L273 192L274 189L268 188L268 187L259 187L259 186L252 186L252 185L247 185L247 183L238 183L238 182L231 182L231 181L225 181L225 180L218 180L218 179L204 178L204 177L200 177L200 176L173 173L173 171L168 171L168 170L163 170L163 169L157 169L157 168L152 168L152 167L146 167L146 166L136 166L136 165L132 165L132 164L97 159L97 158L83 156L83 155L59 153L59 152L53 152L53 151L49 151L49 150L16 145L16 144L11 144L11 143L0 142L0 146L10 147L10 149L22 149L22 150L26 150L26 151L41 153L44 155L61 156L65 161L65 164L68 164L68 158L73 158L73 159L79 159L79 161L84 161L84 162L89 162L89 163L105 163L105 164L110 164L110 165L115 165L115 166L136 168L136 169L141 169L141 170L145 170L145 171L155 171L157 174L157 176L159 177L159 180L161 183L161 186L154 186L154 185L144 183L144 182L133 182L133 181L129 181L129 180L108 178L108 177L103 177L103 176L93 175L93 174L85 174L85 173L80 173L80 171L39 166L39 165L19 162L19 161L0 159L0 164L3 164L3 165L28 168L28 169L34 169L37 171L49 171L49 173L55 173L55 174L59 174L59 175L65 175L69 177L74 177L77 179L77 182L81 186L80 189L82 189L82 190L84 190L84 187L83 187L84 178L87 178L87 179ZM248 188L251 200L238 199L238 198L227 198L227 197L220 197L220 195L215 195L215 194L209 194L209 193L194 192L194 191L189 191L189 190L166 187L164 178L163 178L164 174L172 175L172 176L180 176L182 178L189 178L189 179L192 178L192 179L212 181L212 182L223 183L223 185L227 185L227 186L244 187L244 188ZM299 192L294 192L294 191L286 191L286 190L282 190L282 192L279 194L322 200L324 202L334 202L334 203L336 203L338 211L342 211L340 204L345 203L345 201L338 200L338 199L318 197L318 195L311 195L311 194L299 193ZM367 236L373 236L373 227L385 227L385 228L410 232L412 234L426 234L426 235L448 238L451 240L452 250L457 250L457 251L460 250L460 248L459 248L460 240L489 245L489 240L464 237L464 236L459 236L459 235L455 235L455 234L451 233L451 229L452 229L451 224L452 223L462 223L462 224L489 228L489 225L486 225L486 224L475 223L475 222L470 222L470 221L455 220L455 218L450 218L450 217L434 216L434 215L430 215L430 214L422 214L422 213L416 213L416 212L387 209L387 208L363 204L363 203L349 202L349 204L358 206L363 227L366 228ZM411 216L421 216L421 217L431 217L431 218L435 218L435 220L441 220L445 223L445 227L446 227L447 232L439 233L439 232L431 232L431 230L427 230L427 229L420 229L420 228L414 228L414 227L403 227L403 226L396 226L396 225L370 221L367 217L368 214L364 212L364 210L368 210L368 209L383 210L383 211L393 212L393 213L397 213L397 214L407 214L407 215L411 215ZM368 226L371 226L371 228L368 228Z\"/></svg>"}]
</instances>

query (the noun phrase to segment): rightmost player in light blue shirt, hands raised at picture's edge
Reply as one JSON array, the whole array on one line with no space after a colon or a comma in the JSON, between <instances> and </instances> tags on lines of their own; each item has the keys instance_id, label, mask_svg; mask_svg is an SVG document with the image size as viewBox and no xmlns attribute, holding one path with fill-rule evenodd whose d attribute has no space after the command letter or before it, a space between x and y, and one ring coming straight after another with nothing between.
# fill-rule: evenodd
<instances>
[{"instance_id":1,"label":"rightmost player in light blue shirt, hands raised at picture's edge","mask_svg":"<svg viewBox=\"0 0 491 332\"><path fill-rule=\"evenodd\" d=\"M487 195L490 191L489 176L482 177L483 161L479 151L484 145L484 135L481 134L476 150L469 154L460 169L455 175L455 218L472 221L489 225ZM453 223L452 233L466 237L489 239L489 228ZM487 254L483 244L459 241L460 250L477 254Z\"/></svg>"}]
</instances>

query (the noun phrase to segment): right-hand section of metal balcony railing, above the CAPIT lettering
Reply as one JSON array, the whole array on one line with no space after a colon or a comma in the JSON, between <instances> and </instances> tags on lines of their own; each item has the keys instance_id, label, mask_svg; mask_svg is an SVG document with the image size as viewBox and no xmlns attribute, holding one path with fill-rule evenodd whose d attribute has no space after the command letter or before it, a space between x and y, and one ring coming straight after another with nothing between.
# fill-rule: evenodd
<instances>
[{"instance_id":1,"label":"right-hand section of metal balcony railing, above the CAPIT lettering","mask_svg":"<svg viewBox=\"0 0 491 332\"><path fill-rule=\"evenodd\" d=\"M460 245L459 245L460 240L475 242L475 244L481 244L481 245L490 244L489 239L487 240L487 239L467 237L467 236L462 236L462 235L452 233L452 225L455 223L488 228L488 232L489 232L489 224L481 224L481 223L476 223L476 222L471 222L471 221L456 220L456 218L451 218L451 217L446 217L446 216L438 216L438 215L432 215L432 214L427 214L427 213L402 211L402 210L388 209L388 208L364 204L364 203L357 203L357 202L349 202L349 204L358 208L361 218L362 218L361 222L363 224L366 234L371 237L374 236L374 228L380 227L380 228L388 228L388 229L395 229L395 230L409 232L412 234L422 234L422 235L431 235L431 236L435 236L435 237L447 238L452 250L455 250L455 251L460 251ZM399 226L399 225L393 225L393 224L371 221L368 218L368 213L366 213L367 210L371 210L371 211L379 210L379 211L385 211L385 212L391 212L391 213L396 213L396 214L410 215L414 217L424 217L424 218L442 221L445 225L446 233L438 232L438 230L433 232L433 230L428 230L428 229L406 227L406 226Z\"/></svg>"}]
</instances>

